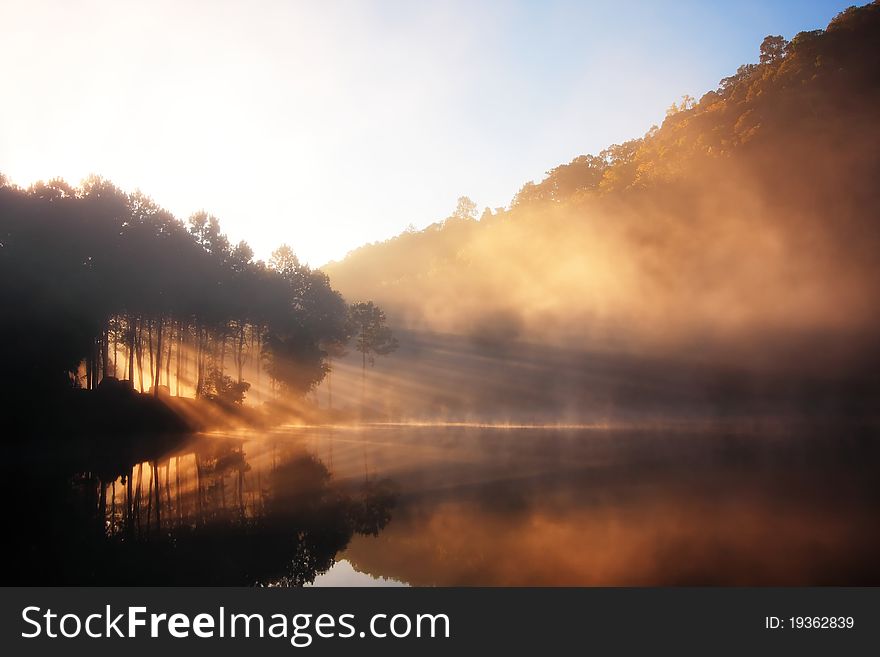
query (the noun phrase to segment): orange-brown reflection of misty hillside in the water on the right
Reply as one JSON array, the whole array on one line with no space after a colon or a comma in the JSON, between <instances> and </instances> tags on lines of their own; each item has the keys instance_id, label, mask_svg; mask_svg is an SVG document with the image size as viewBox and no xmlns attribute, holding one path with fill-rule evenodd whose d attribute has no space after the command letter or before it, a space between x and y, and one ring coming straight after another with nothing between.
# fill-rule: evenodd
<instances>
[{"instance_id":1,"label":"orange-brown reflection of misty hillside in the water on the right","mask_svg":"<svg viewBox=\"0 0 880 657\"><path fill-rule=\"evenodd\" d=\"M412 585L880 584L874 430L395 428L340 476L363 452L401 496L343 556Z\"/></svg>"}]
</instances>

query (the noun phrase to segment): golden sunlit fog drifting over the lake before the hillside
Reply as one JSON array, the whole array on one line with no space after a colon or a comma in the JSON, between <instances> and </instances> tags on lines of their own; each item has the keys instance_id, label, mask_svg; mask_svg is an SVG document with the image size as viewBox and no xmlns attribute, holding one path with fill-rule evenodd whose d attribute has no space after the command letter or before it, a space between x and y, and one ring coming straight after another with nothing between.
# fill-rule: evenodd
<instances>
[{"instance_id":1,"label":"golden sunlit fog drifting over the lake before the hillside","mask_svg":"<svg viewBox=\"0 0 880 657\"><path fill-rule=\"evenodd\" d=\"M635 400L863 403L880 335L865 135L845 150L835 135L774 140L649 187L453 217L331 265L343 294L372 294L412 333L369 373L374 405L597 420Z\"/></svg>"}]
</instances>

